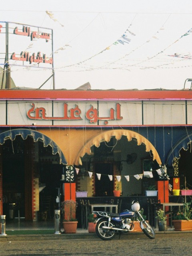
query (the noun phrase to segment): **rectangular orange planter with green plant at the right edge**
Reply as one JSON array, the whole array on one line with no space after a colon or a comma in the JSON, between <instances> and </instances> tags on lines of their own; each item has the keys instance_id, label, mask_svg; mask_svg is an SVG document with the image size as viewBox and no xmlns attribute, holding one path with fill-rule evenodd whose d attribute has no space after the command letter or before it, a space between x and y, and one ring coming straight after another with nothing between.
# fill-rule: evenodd
<instances>
[{"instance_id":1,"label":"rectangular orange planter with green plant at the right edge","mask_svg":"<svg viewBox=\"0 0 192 256\"><path fill-rule=\"evenodd\" d=\"M191 202L183 204L182 211L174 215L173 225L176 231L192 230L192 207Z\"/></svg>"}]
</instances>

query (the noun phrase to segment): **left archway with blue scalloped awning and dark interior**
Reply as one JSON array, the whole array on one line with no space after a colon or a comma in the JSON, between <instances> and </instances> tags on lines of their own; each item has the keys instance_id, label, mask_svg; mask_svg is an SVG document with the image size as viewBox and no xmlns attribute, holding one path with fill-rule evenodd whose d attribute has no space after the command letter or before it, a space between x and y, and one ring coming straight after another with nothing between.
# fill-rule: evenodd
<instances>
[{"instance_id":1,"label":"left archway with blue scalloped awning and dark interior","mask_svg":"<svg viewBox=\"0 0 192 256\"><path fill-rule=\"evenodd\" d=\"M10 204L16 203L20 211L16 216L37 220L45 191L54 195L55 202L62 176L60 163L66 164L65 157L55 142L34 130L2 132L0 145L0 212L9 216ZM54 209L51 210L53 217Z\"/></svg>"}]
</instances>

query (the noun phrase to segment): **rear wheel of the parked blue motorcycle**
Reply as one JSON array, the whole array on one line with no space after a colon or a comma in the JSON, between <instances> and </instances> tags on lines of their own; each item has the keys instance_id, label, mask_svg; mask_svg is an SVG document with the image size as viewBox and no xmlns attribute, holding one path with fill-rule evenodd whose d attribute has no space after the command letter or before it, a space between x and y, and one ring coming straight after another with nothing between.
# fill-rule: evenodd
<instances>
[{"instance_id":1,"label":"rear wheel of the parked blue motorcycle","mask_svg":"<svg viewBox=\"0 0 192 256\"><path fill-rule=\"evenodd\" d=\"M115 234L115 230L104 229L103 227L113 227L112 222L108 219L101 219L96 225L96 234L102 240L111 240Z\"/></svg>"}]
</instances>

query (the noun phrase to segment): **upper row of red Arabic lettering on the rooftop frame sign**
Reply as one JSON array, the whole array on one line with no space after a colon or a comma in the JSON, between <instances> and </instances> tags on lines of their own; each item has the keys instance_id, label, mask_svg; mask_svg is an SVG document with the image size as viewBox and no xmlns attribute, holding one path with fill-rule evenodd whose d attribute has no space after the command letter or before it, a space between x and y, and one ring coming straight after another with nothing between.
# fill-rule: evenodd
<instances>
[{"instance_id":1,"label":"upper row of red Arabic lettering on the rooftop frame sign","mask_svg":"<svg viewBox=\"0 0 192 256\"><path fill-rule=\"evenodd\" d=\"M18 27L14 28L13 34L20 35L20 36L30 36L31 41L34 38L43 38L46 40L46 42L50 39L50 34L48 33L38 33L36 31L31 32L30 27L23 26L22 31L18 30Z\"/></svg>"}]
</instances>

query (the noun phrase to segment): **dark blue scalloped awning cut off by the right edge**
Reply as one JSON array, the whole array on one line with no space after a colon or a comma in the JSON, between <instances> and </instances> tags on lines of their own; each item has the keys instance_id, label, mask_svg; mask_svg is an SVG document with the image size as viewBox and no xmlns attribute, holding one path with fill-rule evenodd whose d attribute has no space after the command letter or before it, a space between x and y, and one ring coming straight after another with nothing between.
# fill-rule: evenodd
<instances>
[{"instance_id":1,"label":"dark blue scalloped awning cut off by the right edge","mask_svg":"<svg viewBox=\"0 0 192 256\"><path fill-rule=\"evenodd\" d=\"M179 140L170 150L166 164L168 166L173 165L174 158L180 158L180 150L183 148L184 150L188 150L189 144L192 143L192 134L187 135L186 137Z\"/></svg>"}]
</instances>

